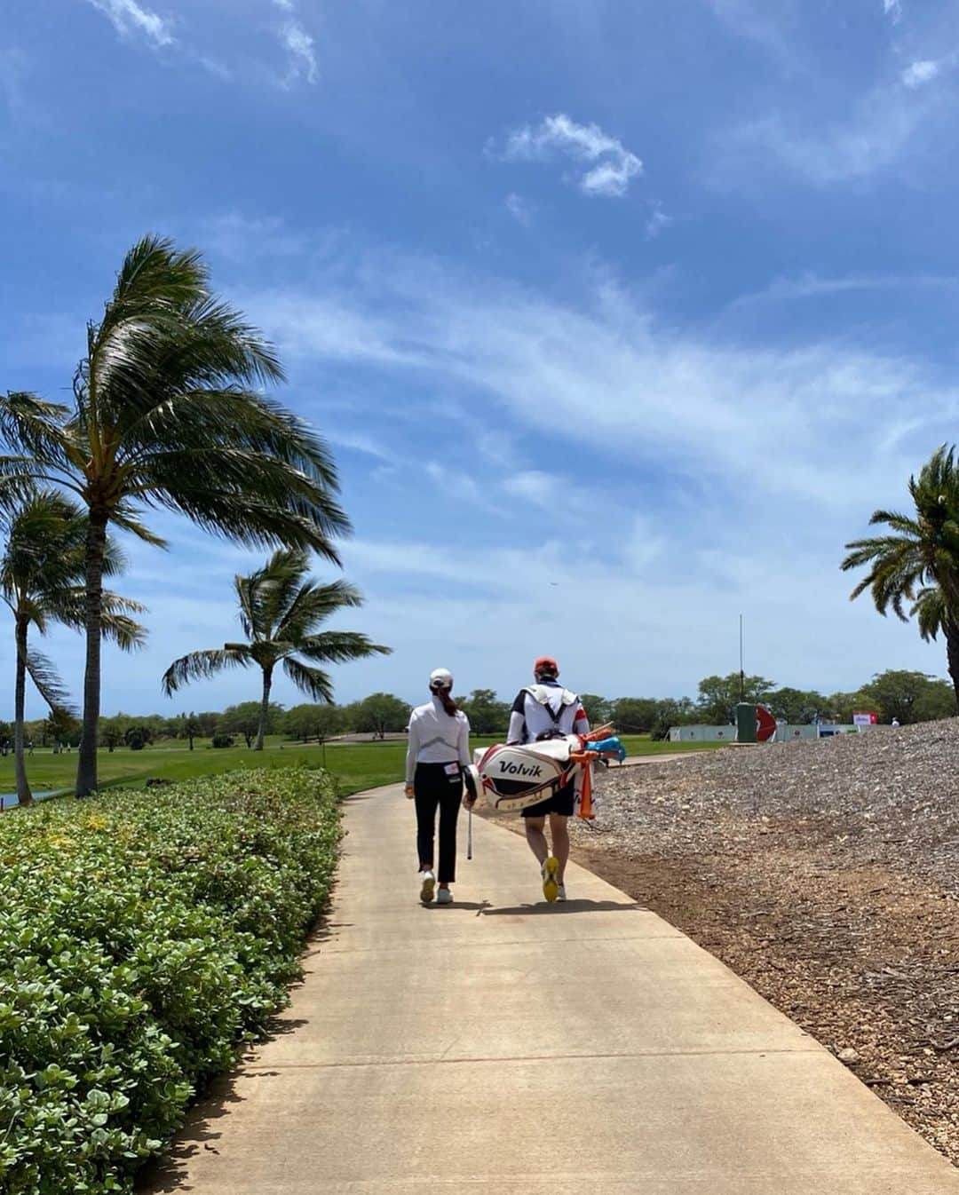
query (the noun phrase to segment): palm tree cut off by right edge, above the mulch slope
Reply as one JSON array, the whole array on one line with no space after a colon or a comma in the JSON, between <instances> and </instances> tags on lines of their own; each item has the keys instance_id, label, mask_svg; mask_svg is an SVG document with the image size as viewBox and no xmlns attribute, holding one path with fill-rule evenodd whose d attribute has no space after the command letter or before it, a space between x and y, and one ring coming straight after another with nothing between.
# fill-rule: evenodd
<instances>
[{"instance_id":1,"label":"palm tree cut off by right edge, above the mulch slope","mask_svg":"<svg viewBox=\"0 0 959 1195\"><path fill-rule=\"evenodd\" d=\"M872 589L880 614L892 607L903 621L916 617L923 639L946 639L949 676L959 700L959 470L955 447L942 445L909 478L915 516L876 510L871 523L893 534L847 544L843 570L869 568L851 598ZM906 611L905 605L909 603Z\"/></svg>"}]
</instances>

